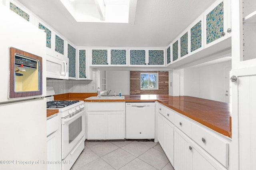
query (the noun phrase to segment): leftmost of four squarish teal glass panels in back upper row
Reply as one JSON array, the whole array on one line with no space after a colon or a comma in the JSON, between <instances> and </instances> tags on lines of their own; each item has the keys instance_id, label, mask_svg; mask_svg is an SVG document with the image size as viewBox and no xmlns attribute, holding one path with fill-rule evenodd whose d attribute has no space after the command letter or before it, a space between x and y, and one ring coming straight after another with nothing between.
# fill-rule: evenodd
<instances>
[{"instance_id":1,"label":"leftmost of four squarish teal glass panels in back upper row","mask_svg":"<svg viewBox=\"0 0 256 170\"><path fill-rule=\"evenodd\" d=\"M108 64L108 50L107 49L93 49L92 50L92 64L93 65L107 65Z\"/></svg>"}]
</instances>

